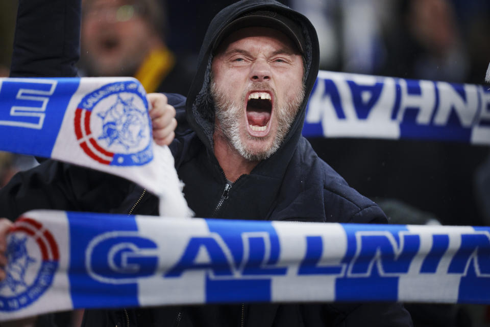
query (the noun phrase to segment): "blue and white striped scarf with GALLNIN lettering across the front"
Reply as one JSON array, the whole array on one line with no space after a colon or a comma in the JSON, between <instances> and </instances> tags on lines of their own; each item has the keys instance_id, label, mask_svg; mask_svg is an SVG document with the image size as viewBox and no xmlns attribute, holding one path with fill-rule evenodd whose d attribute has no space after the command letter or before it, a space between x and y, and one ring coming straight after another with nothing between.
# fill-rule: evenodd
<instances>
[{"instance_id":1,"label":"blue and white striped scarf with GALLNIN lettering across the front","mask_svg":"<svg viewBox=\"0 0 490 327\"><path fill-rule=\"evenodd\" d=\"M24 214L0 321L239 302L490 303L490 227Z\"/></svg>"}]
</instances>

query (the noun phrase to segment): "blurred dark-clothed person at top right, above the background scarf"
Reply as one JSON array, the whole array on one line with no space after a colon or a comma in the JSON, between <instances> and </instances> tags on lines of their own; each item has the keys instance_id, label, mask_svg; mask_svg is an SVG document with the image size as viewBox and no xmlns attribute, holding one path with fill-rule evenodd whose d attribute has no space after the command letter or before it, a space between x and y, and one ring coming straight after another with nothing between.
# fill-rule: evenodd
<instances>
[{"instance_id":1,"label":"blurred dark-clothed person at top right, above the background scarf","mask_svg":"<svg viewBox=\"0 0 490 327\"><path fill-rule=\"evenodd\" d=\"M465 82L470 62L454 3L400 0L396 7L395 28L384 31L386 58L379 74Z\"/></svg>"}]
</instances>

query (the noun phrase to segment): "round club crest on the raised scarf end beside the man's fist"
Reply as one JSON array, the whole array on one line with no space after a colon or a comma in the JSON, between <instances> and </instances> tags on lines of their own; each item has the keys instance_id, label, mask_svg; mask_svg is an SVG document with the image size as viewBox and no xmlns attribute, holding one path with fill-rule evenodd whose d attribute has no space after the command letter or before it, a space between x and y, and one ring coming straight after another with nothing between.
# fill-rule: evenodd
<instances>
[{"instance_id":1,"label":"round club crest on the raised scarf end beside the man's fist","mask_svg":"<svg viewBox=\"0 0 490 327\"><path fill-rule=\"evenodd\" d=\"M75 112L83 151L104 165L140 166L153 158L152 128L143 87L134 81L106 84L86 95Z\"/></svg>"}]
</instances>

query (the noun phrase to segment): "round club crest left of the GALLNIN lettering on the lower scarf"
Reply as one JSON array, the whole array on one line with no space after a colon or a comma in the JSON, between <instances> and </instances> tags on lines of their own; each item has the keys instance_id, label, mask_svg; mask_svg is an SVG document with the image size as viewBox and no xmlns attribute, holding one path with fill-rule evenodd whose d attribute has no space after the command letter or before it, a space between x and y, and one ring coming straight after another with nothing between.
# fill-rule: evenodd
<instances>
[{"instance_id":1,"label":"round club crest left of the GALLNIN lettering on the lower scarf","mask_svg":"<svg viewBox=\"0 0 490 327\"><path fill-rule=\"evenodd\" d=\"M19 219L8 236L7 277L0 282L0 311L16 311L36 301L58 269L58 245L41 223Z\"/></svg>"}]
</instances>

